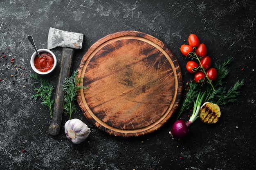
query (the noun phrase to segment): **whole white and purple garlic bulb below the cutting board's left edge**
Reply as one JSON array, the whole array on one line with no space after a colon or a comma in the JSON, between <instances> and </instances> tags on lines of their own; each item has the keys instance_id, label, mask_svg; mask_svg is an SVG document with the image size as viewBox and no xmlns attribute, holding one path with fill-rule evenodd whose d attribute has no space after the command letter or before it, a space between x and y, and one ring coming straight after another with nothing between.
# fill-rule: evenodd
<instances>
[{"instance_id":1,"label":"whole white and purple garlic bulb below the cutting board's left edge","mask_svg":"<svg viewBox=\"0 0 256 170\"><path fill-rule=\"evenodd\" d=\"M79 119L71 119L65 123L65 133L74 144L80 144L89 136L90 128Z\"/></svg>"}]
</instances>

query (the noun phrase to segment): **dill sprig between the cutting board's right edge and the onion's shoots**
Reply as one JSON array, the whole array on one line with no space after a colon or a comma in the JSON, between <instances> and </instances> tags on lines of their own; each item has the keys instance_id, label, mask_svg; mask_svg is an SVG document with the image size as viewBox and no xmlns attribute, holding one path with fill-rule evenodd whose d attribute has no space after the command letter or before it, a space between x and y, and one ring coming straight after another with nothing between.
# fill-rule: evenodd
<instances>
[{"instance_id":1,"label":"dill sprig between the cutting board's right edge and the onion's shoots","mask_svg":"<svg viewBox=\"0 0 256 170\"><path fill-rule=\"evenodd\" d=\"M194 99L196 96L198 96L199 93L199 85L195 81L190 81L189 83L189 91L186 94L186 98L184 99L182 106L180 108L180 112L177 116L177 120L180 118L181 113L184 111L187 111L189 108L192 108L194 103ZM177 121L176 120L176 121Z\"/></svg>"}]
</instances>

